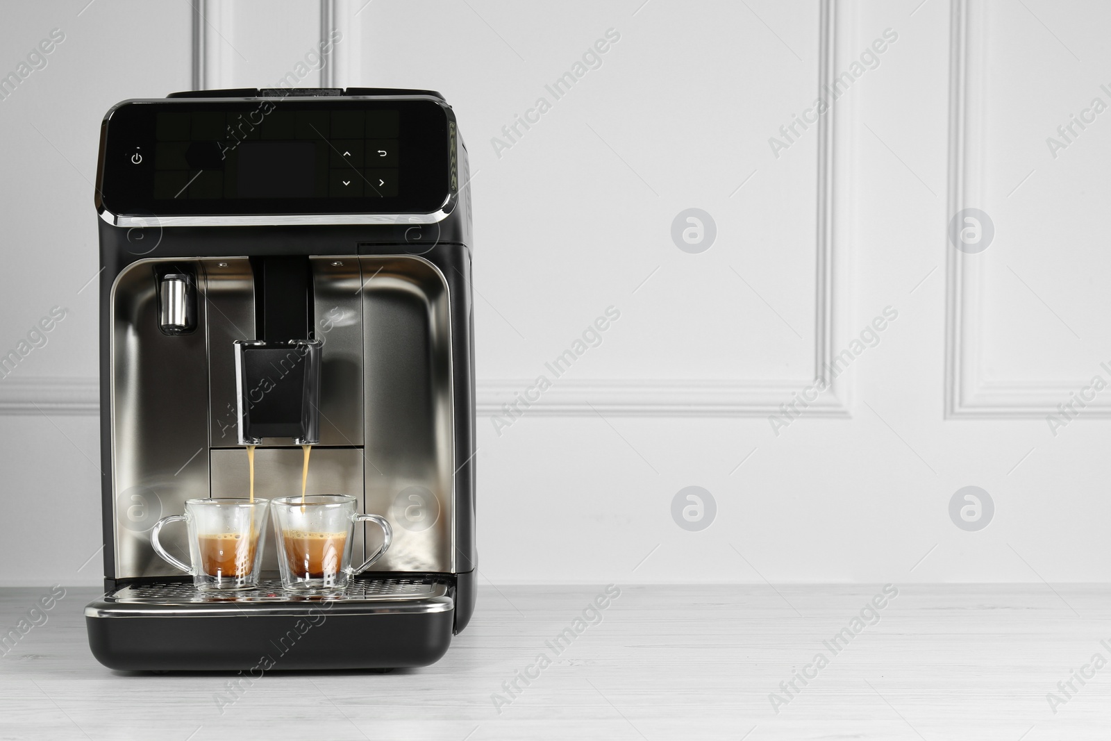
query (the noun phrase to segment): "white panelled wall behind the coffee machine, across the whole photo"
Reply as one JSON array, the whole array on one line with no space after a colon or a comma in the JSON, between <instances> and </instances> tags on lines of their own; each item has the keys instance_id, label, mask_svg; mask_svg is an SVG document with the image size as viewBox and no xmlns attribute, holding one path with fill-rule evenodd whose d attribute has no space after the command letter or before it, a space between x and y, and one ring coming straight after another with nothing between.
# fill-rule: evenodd
<instances>
[{"instance_id":1,"label":"white panelled wall behind the coffee machine, across the whole photo","mask_svg":"<svg viewBox=\"0 0 1111 741\"><path fill-rule=\"evenodd\" d=\"M0 583L99 575L96 559L77 571L99 545L96 286L77 291L97 270L86 179L103 111L194 74L273 84L331 29L330 67L303 84L440 90L470 148L484 578L1111 579L1111 391L1055 437L1045 420L1085 379L1111 381L1099 366L1111 366L1099 290L1111 113L1055 159L1045 143L1093 97L1111 103L1102 4L209 0L199 50L188 2L82 6L27 7L0 29L10 67L50 29L67 33L0 101L14 142L0 344L51 306L71 310L0 380L0 460L17 518L73 513L33 563L32 529L0 539L22 564ZM544 86L609 29L620 40L601 67L554 100ZM887 29L898 39L879 66L775 157L769 138ZM492 139L538 97L551 110L499 151ZM718 232L698 254L670 233L692 207ZM994 224L978 254L947 240L964 208ZM544 362L610 306L621 317L601 344L496 430L501 405L551 377ZM773 430L769 414L885 307L898 319L879 344ZM970 484L995 504L977 532L949 514ZM688 485L717 502L702 531L672 520Z\"/></svg>"}]
</instances>

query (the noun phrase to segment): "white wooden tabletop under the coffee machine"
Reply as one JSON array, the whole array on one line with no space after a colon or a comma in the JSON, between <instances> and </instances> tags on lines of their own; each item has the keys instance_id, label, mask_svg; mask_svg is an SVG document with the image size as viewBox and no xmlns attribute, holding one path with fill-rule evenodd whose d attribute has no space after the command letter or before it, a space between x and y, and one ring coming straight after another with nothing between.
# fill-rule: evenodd
<instances>
[{"instance_id":1,"label":"white wooden tabletop under the coffee machine","mask_svg":"<svg viewBox=\"0 0 1111 741\"><path fill-rule=\"evenodd\" d=\"M0 590L0 632L46 591ZM852 628L880 585L624 587L557 655L546 641L601 593L486 587L432 667L276 671L221 713L227 674L98 664L82 617L96 592L69 589L0 655L0 739L1111 738L1111 664L1083 685L1072 678L1095 653L1111 661L1109 587L899 587L837 653L823 641ZM541 653L552 663L538 670ZM502 682L526 669L534 679L510 697ZM792 679L789 697L779 684ZM1069 680L1072 697L1058 689ZM773 710L772 692L785 704ZM1064 702L1051 708L1051 692ZM496 708L496 693L512 701Z\"/></svg>"}]
</instances>

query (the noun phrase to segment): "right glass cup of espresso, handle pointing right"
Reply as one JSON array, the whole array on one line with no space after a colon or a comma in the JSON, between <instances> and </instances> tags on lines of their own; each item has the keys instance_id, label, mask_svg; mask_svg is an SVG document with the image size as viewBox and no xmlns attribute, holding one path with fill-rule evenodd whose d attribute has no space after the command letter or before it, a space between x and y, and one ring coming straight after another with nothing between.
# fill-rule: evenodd
<instances>
[{"instance_id":1,"label":"right glass cup of espresso, handle pointing right","mask_svg":"<svg viewBox=\"0 0 1111 741\"><path fill-rule=\"evenodd\" d=\"M289 591L342 591L351 577L382 557L393 539L390 523L377 514L359 514L358 500L347 494L282 497L271 503L281 583ZM382 544L356 569L351 568L354 523L373 522L382 529Z\"/></svg>"}]
</instances>

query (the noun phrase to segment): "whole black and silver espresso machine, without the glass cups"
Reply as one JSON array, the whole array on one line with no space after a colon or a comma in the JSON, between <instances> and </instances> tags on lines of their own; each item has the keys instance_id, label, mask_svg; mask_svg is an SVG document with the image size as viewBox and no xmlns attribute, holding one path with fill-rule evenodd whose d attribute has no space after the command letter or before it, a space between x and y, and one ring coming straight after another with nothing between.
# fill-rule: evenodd
<instances>
[{"instance_id":1,"label":"whole black and silver espresso machine, without the glass cups","mask_svg":"<svg viewBox=\"0 0 1111 741\"><path fill-rule=\"evenodd\" d=\"M119 670L388 669L474 609L467 150L443 97L237 89L128 100L101 124L104 595ZM341 594L217 595L152 550L197 498L358 497L392 543ZM356 532L356 560L381 544ZM188 562L186 529L162 544ZM374 539L378 539L377 542ZM176 540L177 539L177 540Z\"/></svg>"}]
</instances>

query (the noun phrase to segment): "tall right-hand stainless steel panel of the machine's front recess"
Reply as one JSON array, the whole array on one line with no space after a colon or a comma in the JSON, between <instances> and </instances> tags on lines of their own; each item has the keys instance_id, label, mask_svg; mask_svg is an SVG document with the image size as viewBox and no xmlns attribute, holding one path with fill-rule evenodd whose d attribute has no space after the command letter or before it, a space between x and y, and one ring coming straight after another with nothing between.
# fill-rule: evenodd
<instances>
[{"instance_id":1,"label":"tall right-hand stainless steel panel of the machine's front recess","mask_svg":"<svg viewBox=\"0 0 1111 741\"><path fill-rule=\"evenodd\" d=\"M393 527L373 571L454 571L448 286L418 257L363 257L366 505Z\"/></svg>"}]
</instances>

